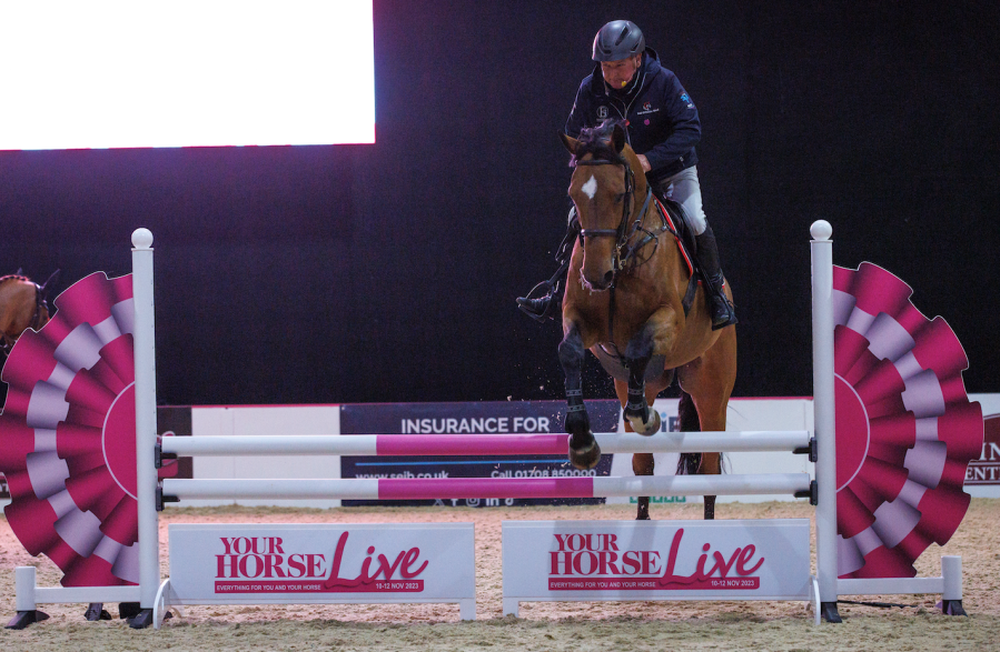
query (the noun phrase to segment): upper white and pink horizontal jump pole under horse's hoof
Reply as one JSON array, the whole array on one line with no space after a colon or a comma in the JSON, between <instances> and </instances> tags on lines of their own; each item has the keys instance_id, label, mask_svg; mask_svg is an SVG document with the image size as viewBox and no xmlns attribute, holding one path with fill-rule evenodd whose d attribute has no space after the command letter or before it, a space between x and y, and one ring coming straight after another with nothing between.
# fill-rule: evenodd
<instances>
[{"instance_id":1,"label":"upper white and pink horizontal jump pole under horse's hoof","mask_svg":"<svg viewBox=\"0 0 1000 652\"><path fill-rule=\"evenodd\" d=\"M801 431L600 432L604 453L808 453ZM274 434L253 437L168 437L165 459L184 455L565 455L566 434Z\"/></svg>"}]
</instances>

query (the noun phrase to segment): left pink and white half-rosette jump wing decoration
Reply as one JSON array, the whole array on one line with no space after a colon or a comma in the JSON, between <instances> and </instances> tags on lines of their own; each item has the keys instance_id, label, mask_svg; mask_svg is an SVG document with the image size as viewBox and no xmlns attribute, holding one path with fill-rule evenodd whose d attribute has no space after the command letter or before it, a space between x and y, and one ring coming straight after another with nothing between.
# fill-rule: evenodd
<instances>
[{"instance_id":1,"label":"left pink and white half-rosette jump wing decoration","mask_svg":"<svg viewBox=\"0 0 1000 652\"><path fill-rule=\"evenodd\" d=\"M63 571L63 586L136 584L131 275L96 272L55 304L41 331L24 331L0 377L9 384L0 414L4 513L29 553Z\"/></svg>"}]
</instances>

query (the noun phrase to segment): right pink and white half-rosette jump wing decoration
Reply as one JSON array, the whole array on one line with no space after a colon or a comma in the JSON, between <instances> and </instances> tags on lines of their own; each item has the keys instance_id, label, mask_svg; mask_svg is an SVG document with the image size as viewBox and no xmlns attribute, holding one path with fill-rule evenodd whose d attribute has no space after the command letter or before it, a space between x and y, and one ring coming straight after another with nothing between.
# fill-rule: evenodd
<instances>
[{"instance_id":1,"label":"right pink and white half-rosette jump wing decoration","mask_svg":"<svg viewBox=\"0 0 1000 652\"><path fill-rule=\"evenodd\" d=\"M959 526L966 468L982 448L969 360L948 323L871 264L833 268L838 575L912 578Z\"/></svg>"}]
</instances>

